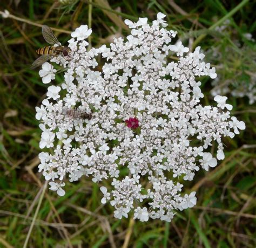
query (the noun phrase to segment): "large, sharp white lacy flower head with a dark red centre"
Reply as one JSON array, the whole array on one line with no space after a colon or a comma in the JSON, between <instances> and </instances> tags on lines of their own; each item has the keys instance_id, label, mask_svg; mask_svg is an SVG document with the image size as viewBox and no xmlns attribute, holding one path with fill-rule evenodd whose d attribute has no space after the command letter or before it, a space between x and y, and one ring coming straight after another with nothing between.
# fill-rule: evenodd
<instances>
[{"instance_id":1,"label":"large, sharp white lacy flower head with a dark red centre","mask_svg":"<svg viewBox=\"0 0 256 248\"><path fill-rule=\"evenodd\" d=\"M39 154L39 171L58 195L65 194L65 178L106 180L112 187L100 187L102 203L110 202L114 217L127 218L132 211L142 222L170 222L197 202L196 192L182 194L179 181L217 166L217 159L224 159L221 138L245 129L231 118L227 98L215 97L216 106L200 103L204 94L196 78L216 78L215 68L203 61L200 47L188 53L180 41L173 42L176 32L165 29L164 17L158 13L152 25L147 18L126 20L127 39L90 51L87 26L71 34L72 59L62 89L50 86L36 108L42 121L39 146L53 151ZM99 56L104 64L98 67Z\"/></svg>"}]
</instances>

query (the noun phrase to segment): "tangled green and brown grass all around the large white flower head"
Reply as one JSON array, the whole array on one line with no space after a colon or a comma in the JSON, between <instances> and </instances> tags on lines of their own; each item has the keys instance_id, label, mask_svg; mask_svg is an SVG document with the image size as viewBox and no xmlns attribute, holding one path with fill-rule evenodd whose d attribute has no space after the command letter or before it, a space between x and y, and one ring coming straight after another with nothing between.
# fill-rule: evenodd
<instances>
[{"instance_id":1,"label":"tangled green and brown grass all around the large white flower head","mask_svg":"<svg viewBox=\"0 0 256 248\"><path fill-rule=\"evenodd\" d=\"M100 185L85 177L67 182L64 197L46 191L37 208L45 184L37 172L41 132L35 106L47 86L38 71L29 69L35 50L46 45L42 24L60 29L55 33L63 44L69 32L88 24L93 29L90 43L99 46L129 32L124 19L153 20L161 11L185 44L191 49L199 44L207 53L207 61L217 67L217 85L252 92L255 42L244 34L255 33L255 1L65 2L1 1L0 10L11 16L0 18L0 247L255 247L256 108L247 97L227 93L232 114L246 122L246 130L225 140L226 158L218 167L201 170L186 183L188 192L197 190L197 206L178 213L171 223L119 221L110 205L100 203ZM62 81L59 74L54 84ZM211 104L211 80L202 87L204 103Z\"/></svg>"}]
</instances>

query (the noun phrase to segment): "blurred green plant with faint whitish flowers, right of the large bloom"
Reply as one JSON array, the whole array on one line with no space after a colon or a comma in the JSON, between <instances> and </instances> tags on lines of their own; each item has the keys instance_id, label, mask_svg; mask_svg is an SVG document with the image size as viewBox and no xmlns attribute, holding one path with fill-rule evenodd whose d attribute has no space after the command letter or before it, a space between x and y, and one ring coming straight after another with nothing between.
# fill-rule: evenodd
<instances>
[{"instance_id":1,"label":"blurred green plant with faint whitish flowers, right of the large bloom","mask_svg":"<svg viewBox=\"0 0 256 248\"><path fill-rule=\"evenodd\" d=\"M239 37L229 19L217 26L221 40L206 51L208 60L218 61L218 78L212 81L211 94L230 94L234 98L248 98L250 105L256 102L256 47L251 33L241 33ZM231 44L222 44L223 37ZM250 44L250 45L248 45ZM222 64L220 64L222 61Z\"/></svg>"}]
</instances>

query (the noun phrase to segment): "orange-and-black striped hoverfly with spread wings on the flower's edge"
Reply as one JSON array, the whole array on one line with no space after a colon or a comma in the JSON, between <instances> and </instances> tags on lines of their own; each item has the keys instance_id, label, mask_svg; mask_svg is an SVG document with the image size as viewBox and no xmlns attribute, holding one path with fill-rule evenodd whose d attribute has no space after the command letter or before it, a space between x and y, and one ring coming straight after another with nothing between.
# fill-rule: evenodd
<instances>
[{"instance_id":1,"label":"orange-and-black striped hoverfly with spread wings on the flower's edge","mask_svg":"<svg viewBox=\"0 0 256 248\"><path fill-rule=\"evenodd\" d=\"M58 44L58 46L45 46L37 49L36 53L41 56L37 58L35 61L33 61L33 64L30 67L31 69L35 69L36 67L41 66L46 61L49 61L50 59L57 57L60 54L66 57L71 52L69 47L62 46L59 43L58 39L53 34L52 30L48 25L42 26L42 34L47 43L51 45Z\"/></svg>"}]
</instances>

